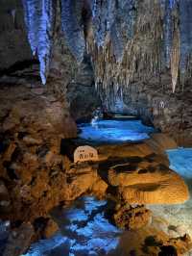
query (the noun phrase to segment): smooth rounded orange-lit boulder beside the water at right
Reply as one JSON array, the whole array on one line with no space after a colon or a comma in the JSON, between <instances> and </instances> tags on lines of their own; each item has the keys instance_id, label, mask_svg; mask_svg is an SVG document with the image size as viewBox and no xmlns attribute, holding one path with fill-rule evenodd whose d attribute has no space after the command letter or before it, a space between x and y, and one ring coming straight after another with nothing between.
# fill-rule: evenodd
<instances>
[{"instance_id":1,"label":"smooth rounded orange-lit boulder beside the water at right","mask_svg":"<svg viewBox=\"0 0 192 256\"><path fill-rule=\"evenodd\" d=\"M179 204L189 199L180 175L156 162L111 166L108 182L118 186L120 195L130 204Z\"/></svg>"}]
</instances>

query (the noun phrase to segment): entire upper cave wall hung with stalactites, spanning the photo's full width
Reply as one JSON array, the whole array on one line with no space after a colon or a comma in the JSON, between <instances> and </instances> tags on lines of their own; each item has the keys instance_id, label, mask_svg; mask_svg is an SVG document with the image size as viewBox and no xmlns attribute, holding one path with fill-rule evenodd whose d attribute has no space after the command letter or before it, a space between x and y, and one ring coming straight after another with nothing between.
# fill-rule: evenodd
<instances>
[{"instance_id":1,"label":"entire upper cave wall hung with stalactites, spanning the photo's full width","mask_svg":"<svg viewBox=\"0 0 192 256\"><path fill-rule=\"evenodd\" d=\"M42 82L48 76L47 88L76 120L90 118L99 94L108 111L139 115L191 140L190 1L40 3L1 0L0 69L39 61L12 81L18 74L33 80L33 73L39 81L39 68Z\"/></svg>"}]
</instances>

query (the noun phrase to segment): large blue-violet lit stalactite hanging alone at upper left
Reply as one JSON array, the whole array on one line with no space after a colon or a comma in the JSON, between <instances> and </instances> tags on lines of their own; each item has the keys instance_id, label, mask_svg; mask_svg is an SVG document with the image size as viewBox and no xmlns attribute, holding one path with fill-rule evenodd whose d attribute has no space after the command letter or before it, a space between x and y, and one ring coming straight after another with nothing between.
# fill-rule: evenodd
<instances>
[{"instance_id":1,"label":"large blue-violet lit stalactite hanging alone at upper left","mask_svg":"<svg viewBox=\"0 0 192 256\"><path fill-rule=\"evenodd\" d=\"M54 33L55 5L52 0L23 0L28 38L40 63L42 84L46 83Z\"/></svg>"}]
</instances>

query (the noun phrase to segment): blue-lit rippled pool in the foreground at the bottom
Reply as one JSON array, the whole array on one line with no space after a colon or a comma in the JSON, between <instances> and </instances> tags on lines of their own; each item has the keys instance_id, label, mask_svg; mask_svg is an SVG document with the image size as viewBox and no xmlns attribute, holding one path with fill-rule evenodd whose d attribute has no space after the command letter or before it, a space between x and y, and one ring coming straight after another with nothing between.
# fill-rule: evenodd
<instances>
[{"instance_id":1,"label":"blue-lit rippled pool in the foreground at the bottom","mask_svg":"<svg viewBox=\"0 0 192 256\"><path fill-rule=\"evenodd\" d=\"M104 256L119 243L120 230L105 218L107 201L87 196L68 209L55 209L60 232L31 246L26 256Z\"/></svg>"}]
</instances>

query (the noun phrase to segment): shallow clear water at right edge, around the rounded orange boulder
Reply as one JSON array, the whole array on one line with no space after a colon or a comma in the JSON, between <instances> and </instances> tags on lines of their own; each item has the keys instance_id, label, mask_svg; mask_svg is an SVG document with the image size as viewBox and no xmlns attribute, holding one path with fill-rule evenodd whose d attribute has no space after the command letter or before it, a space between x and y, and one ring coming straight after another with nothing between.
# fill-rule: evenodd
<instances>
[{"instance_id":1,"label":"shallow clear water at right edge, around the rounded orange boulder","mask_svg":"<svg viewBox=\"0 0 192 256\"><path fill-rule=\"evenodd\" d=\"M176 148L166 151L170 168L180 174L188 186L190 198L184 204L149 206L156 216L165 218L171 225L180 227L192 237L192 148Z\"/></svg>"}]
</instances>

